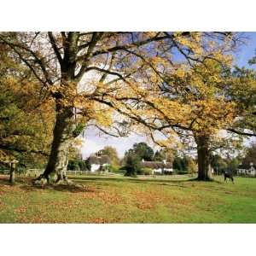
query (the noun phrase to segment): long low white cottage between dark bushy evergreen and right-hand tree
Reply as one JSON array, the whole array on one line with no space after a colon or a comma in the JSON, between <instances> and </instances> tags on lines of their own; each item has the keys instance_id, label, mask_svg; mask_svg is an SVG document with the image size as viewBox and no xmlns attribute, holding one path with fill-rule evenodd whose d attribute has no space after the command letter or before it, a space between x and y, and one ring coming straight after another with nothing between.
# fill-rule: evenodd
<instances>
[{"instance_id":1,"label":"long low white cottage between dark bushy evergreen and right-hand tree","mask_svg":"<svg viewBox=\"0 0 256 256\"><path fill-rule=\"evenodd\" d=\"M167 162L166 160L163 161L145 161L142 160L141 166L143 168L150 168L154 172L154 174L172 174L172 163Z\"/></svg>"}]
</instances>

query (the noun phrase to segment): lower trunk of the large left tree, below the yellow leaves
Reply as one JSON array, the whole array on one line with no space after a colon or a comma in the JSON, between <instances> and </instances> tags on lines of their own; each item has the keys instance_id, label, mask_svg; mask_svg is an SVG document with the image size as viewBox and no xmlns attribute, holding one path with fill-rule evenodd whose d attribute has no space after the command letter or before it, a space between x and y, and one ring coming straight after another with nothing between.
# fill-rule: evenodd
<instances>
[{"instance_id":1,"label":"lower trunk of the large left tree, below the yellow leaves","mask_svg":"<svg viewBox=\"0 0 256 256\"><path fill-rule=\"evenodd\" d=\"M47 182L49 182L49 175L54 174L57 176L56 182L67 180L68 147L70 139L73 137L72 109L56 105L55 127L49 160L44 173L38 177L38 179L46 178Z\"/></svg>"}]
</instances>

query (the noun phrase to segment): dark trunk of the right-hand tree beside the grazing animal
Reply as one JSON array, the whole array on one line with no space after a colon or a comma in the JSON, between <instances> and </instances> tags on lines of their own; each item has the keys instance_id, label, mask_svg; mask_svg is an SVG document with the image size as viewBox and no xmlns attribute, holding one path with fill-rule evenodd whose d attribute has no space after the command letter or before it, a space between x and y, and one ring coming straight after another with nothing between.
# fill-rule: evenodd
<instances>
[{"instance_id":1,"label":"dark trunk of the right-hand tree beside the grazing animal","mask_svg":"<svg viewBox=\"0 0 256 256\"><path fill-rule=\"evenodd\" d=\"M212 180L212 170L210 162L209 137L200 136L195 137L197 144L197 158L198 158L198 180L209 181Z\"/></svg>"}]
</instances>

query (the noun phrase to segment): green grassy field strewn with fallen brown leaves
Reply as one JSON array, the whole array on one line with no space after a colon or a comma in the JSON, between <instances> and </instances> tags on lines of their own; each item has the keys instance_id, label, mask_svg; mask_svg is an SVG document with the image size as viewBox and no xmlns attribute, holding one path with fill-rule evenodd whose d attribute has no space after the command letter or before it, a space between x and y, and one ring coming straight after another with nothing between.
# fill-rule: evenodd
<instances>
[{"instance_id":1,"label":"green grassy field strewn with fallen brown leaves","mask_svg":"<svg viewBox=\"0 0 256 256\"><path fill-rule=\"evenodd\" d=\"M0 176L0 223L256 223L256 178L76 176L65 185L15 186Z\"/></svg>"}]
</instances>

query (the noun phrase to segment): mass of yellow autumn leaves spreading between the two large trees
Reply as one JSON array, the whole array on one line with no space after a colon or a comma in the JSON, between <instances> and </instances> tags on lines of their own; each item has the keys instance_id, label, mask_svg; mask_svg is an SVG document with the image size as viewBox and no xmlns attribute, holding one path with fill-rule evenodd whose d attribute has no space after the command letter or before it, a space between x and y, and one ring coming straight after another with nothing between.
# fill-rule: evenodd
<instances>
[{"instance_id":1,"label":"mass of yellow autumn leaves spreading between the two large trees","mask_svg":"<svg viewBox=\"0 0 256 256\"><path fill-rule=\"evenodd\" d=\"M147 40L157 34L142 32L137 37ZM122 40L127 40L125 35L118 43ZM215 134L236 117L235 102L224 95L223 72L232 64L230 40L219 44L203 32L190 32L189 36L174 32L172 42L154 42L148 49L134 44L129 49L134 55L116 54L109 70L119 76L111 74L104 80L102 73L96 72L83 86L76 81L57 84L51 92L61 94L64 108L77 108L84 124L94 121L111 127L119 112L149 127L180 126L194 133ZM106 45L114 44L109 39ZM94 61L95 67L107 69L110 65L107 60L103 66L103 56Z\"/></svg>"}]
</instances>

